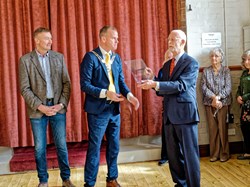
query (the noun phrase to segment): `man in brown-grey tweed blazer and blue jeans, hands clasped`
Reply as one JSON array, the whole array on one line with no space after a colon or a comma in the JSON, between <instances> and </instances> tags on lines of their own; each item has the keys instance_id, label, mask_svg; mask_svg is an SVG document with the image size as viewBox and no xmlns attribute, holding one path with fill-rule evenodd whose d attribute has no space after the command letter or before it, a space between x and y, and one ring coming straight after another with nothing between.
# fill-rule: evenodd
<instances>
[{"instance_id":1,"label":"man in brown-grey tweed blazer and blue jeans, hands clasped","mask_svg":"<svg viewBox=\"0 0 250 187\"><path fill-rule=\"evenodd\" d=\"M70 98L70 78L64 57L51 50L52 36L47 28L33 33L36 48L20 58L19 82L26 102L35 144L39 187L48 186L46 160L47 125L51 126L63 186L74 186L66 144L66 110Z\"/></svg>"}]
</instances>

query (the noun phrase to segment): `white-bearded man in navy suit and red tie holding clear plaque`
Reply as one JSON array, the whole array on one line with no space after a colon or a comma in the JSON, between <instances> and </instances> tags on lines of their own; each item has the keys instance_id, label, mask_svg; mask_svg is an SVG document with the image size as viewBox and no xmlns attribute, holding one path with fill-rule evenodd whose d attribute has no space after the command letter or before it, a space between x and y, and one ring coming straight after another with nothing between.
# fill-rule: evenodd
<instances>
[{"instance_id":1,"label":"white-bearded man in navy suit and red tie holding clear plaque","mask_svg":"<svg viewBox=\"0 0 250 187\"><path fill-rule=\"evenodd\" d=\"M184 51L186 34L173 30L168 47L173 59L166 62L160 80L148 80L138 85L154 88L164 96L164 130L169 168L176 186L200 186L200 159L198 145L199 113L196 100L198 62ZM173 71L170 73L171 63ZM147 68L153 79L153 72Z\"/></svg>"}]
</instances>

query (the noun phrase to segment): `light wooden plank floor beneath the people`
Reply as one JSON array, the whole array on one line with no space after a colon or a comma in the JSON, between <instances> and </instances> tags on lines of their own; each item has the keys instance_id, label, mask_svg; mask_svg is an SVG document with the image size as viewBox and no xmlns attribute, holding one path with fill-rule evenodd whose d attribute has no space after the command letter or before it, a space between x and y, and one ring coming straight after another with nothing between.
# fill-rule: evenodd
<instances>
[{"instance_id":1,"label":"light wooden plank floor beneath the people","mask_svg":"<svg viewBox=\"0 0 250 187\"><path fill-rule=\"evenodd\" d=\"M227 162L209 162L201 158L201 186L203 187L250 187L249 160L237 160L233 155ZM84 183L83 168L71 169L71 180L77 187ZM100 166L96 187L106 186L106 165ZM58 169L49 170L49 186L61 186ZM156 161L119 164L119 183L122 187L172 187L174 183L168 164L158 166ZM0 187L35 187L36 171L0 175Z\"/></svg>"}]
</instances>

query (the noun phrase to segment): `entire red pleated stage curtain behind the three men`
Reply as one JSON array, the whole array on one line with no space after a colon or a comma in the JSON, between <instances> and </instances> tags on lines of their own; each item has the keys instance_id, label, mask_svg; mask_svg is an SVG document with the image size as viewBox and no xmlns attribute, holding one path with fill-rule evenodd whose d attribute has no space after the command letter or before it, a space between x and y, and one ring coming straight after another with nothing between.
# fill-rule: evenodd
<instances>
[{"instance_id":1,"label":"entire red pleated stage curtain behind the three men","mask_svg":"<svg viewBox=\"0 0 250 187\"><path fill-rule=\"evenodd\" d=\"M123 61L143 59L157 74L167 49L167 36L176 28L174 0L12 0L0 1L0 146L33 145L25 104L19 93L20 56L34 48L32 32L49 27L53 50L64 54L72 81L67 112L67 141L87 140L87 120L80 90L79 66L84 54L98 46L99 30L114 25L119 33L117 53ZM5 18L5 19L4 19ZM132 93L139 98L134 111L121 105L121 138L161 132L162 99L153 90L142 91L123 66ZM48 143L52 142L48 136Z\"/></svg>"}]
</instances>

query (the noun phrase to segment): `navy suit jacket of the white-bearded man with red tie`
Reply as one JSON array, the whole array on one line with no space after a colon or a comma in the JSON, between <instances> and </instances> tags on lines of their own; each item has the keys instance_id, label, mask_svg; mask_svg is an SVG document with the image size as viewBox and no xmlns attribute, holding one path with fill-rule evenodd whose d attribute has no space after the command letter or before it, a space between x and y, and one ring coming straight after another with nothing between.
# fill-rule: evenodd
<instances>
[{"instance_id":1,"label":"navy suit jacket of the white-bearded man with red tie","mask_svg":"<svg viewBox=\"0 0 250 187\"><path fill-rule=\"evenodd\" d=\"M170 62L162 68L159 94L164 96L164 124L167 119L172 124L199 122L196 100L198 62L184 53L169 76Z\"/></svg>"}]
</instances>

